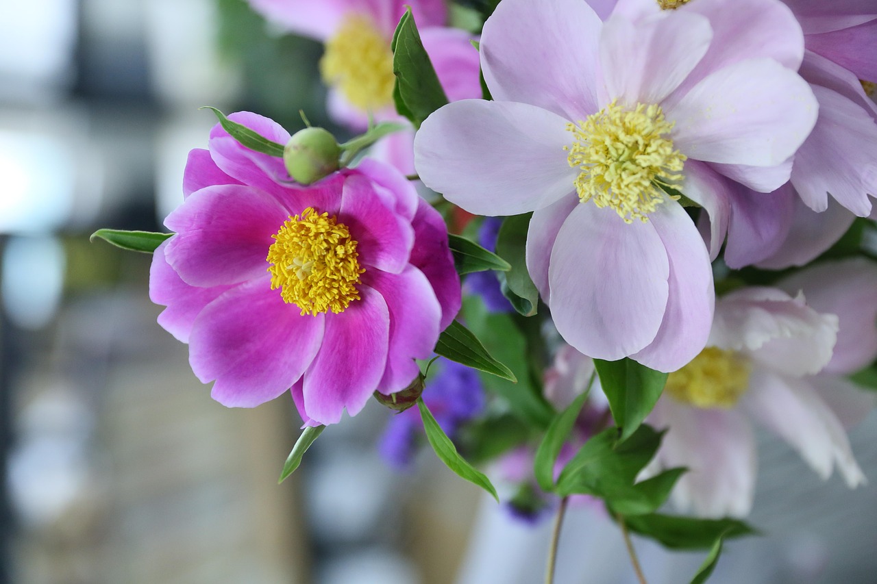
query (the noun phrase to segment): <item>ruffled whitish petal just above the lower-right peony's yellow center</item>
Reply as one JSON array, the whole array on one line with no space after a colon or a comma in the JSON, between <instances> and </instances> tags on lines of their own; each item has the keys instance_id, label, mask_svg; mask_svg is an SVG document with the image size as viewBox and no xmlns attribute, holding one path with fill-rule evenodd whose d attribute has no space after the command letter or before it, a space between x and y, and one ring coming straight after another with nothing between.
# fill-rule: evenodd
<instances>
[{"instance_id":1,"label":"ruffled whitish petal just above the lower-right peony's yellow center","mask_svg":"<svg viewBox=\"0 0 877 584\"><path fill-rule=\"evenodd\" d=\"M800 377L831 360L838 317L819 314L802 296L778 288L740 288L719 299L709 345L731 349L764 367Z\"/></svg>"}]
</instances>

